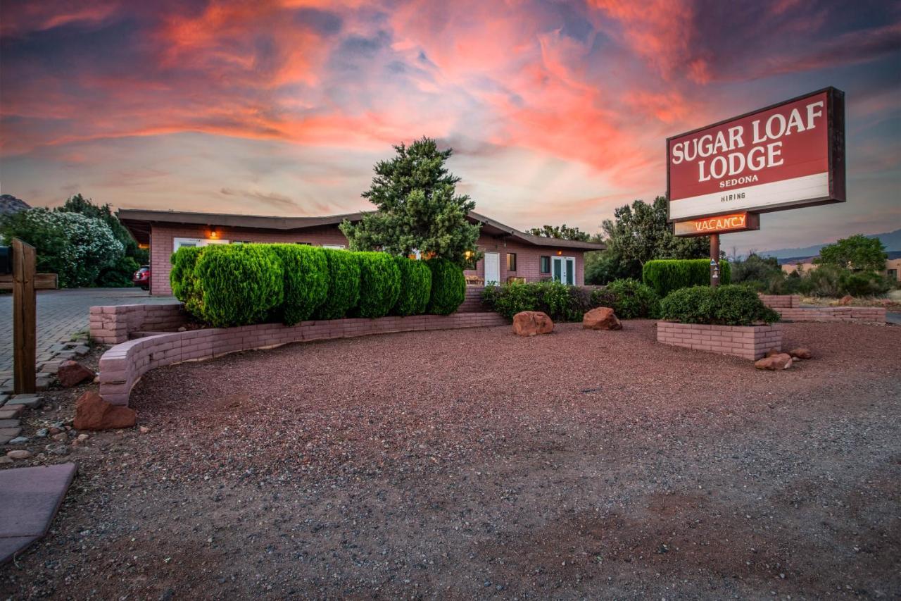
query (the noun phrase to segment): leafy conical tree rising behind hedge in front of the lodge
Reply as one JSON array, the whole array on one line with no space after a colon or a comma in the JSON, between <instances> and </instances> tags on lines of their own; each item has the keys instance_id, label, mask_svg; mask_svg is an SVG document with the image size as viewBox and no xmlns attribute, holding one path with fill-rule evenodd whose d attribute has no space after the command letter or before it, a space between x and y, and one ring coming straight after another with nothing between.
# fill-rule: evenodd
<instances>
[{"instance_id":1,"label":"leafy conical tree rising behind hedge in front of the lodge","mask_svg":"<svg viewBox=\"0 0 901 601\"><path fill-rule=\"evenodd\" d=\"M444 166L453 151L439 150L427 137L394 148L396 156L376 163L376 177L363 192L378 211L357 224L341 224L350 249L402 255L419 250L460 266L469 264L467 253L478 255L479 225L467 220L476 203L457 194L460 178Z\"/></svg>"}]
</instances>

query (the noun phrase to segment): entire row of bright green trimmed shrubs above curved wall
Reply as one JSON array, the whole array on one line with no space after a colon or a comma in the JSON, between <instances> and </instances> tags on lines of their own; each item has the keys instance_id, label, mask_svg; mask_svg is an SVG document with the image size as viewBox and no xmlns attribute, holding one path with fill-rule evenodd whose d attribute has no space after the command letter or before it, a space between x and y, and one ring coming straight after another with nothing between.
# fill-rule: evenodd
<instances>
[{"instance_id":1,"label":"entire row of bright green trimmed shrubs above curved wall","mask_svg":"<svg viewBox=\"0 0 901 601\"><path fill-rule=\"evenodd\" d=\"M450 314L466 296L459 266L308 245L210 245L171 257L172 292L216 327L279 320Z\"/></svg>"}]
</instances>

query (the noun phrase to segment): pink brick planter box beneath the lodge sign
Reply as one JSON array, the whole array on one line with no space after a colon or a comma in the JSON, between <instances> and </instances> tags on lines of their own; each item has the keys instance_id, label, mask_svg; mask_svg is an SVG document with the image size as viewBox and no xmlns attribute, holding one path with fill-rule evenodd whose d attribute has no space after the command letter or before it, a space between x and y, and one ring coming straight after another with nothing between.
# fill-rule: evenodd
<instances>
[{"instance_id":1,"label":"pink brick planter box beneath the lodge sign","mask_svg":"<svg viewBox=\"0 0 901 601\"><path fill-rule=\"evenodd\" d=\"M771 348L782 350L782 325L705 326L658 321L657 341L675 347L753 360L760 359Z\"/></svg>"}]
</instances>

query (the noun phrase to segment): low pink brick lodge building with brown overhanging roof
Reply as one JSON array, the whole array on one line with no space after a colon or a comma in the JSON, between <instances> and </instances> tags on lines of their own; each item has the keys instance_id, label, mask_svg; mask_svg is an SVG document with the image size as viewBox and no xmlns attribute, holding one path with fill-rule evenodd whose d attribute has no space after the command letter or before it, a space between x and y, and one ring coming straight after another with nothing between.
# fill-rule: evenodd
<instances>
[{"instance_id":1,"label":"low pink brick lodge building with brown overhanging roof","mask_svg":"<svg viewBox=\"0 0 901 601\"><path fill-rule=\"evenodd\" d=\"M259 217L131 208L118 213L138 244L150 248L151 294L172 293L169 257L182 246L258 242L346 249L347 238L338 226L344 219L356 222L363 215ZM581 286L585 283L585 253L605 249L593 242L532 236L475 212L468 218L481 224L478 250L484 254L464 272L472 286L542 281Z\"/></svg>"}]
</instances>

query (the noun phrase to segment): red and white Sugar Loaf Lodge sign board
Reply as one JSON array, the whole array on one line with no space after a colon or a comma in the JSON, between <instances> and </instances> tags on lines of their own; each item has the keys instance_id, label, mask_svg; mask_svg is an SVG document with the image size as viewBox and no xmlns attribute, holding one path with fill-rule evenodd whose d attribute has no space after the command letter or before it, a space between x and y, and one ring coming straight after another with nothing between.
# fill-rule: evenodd
<instances>
[{"instance_id":1,"label":"red and white Sugar Loaf Lodge sign board","mask_svg":"<svg viewBox=\"0 0 901 601\"><path fill-rule=\"evenodd\" d=\"M826 88L668 138L667 180L670 221L843 202L844 93Z\"/></svg>"}]
</instances>

